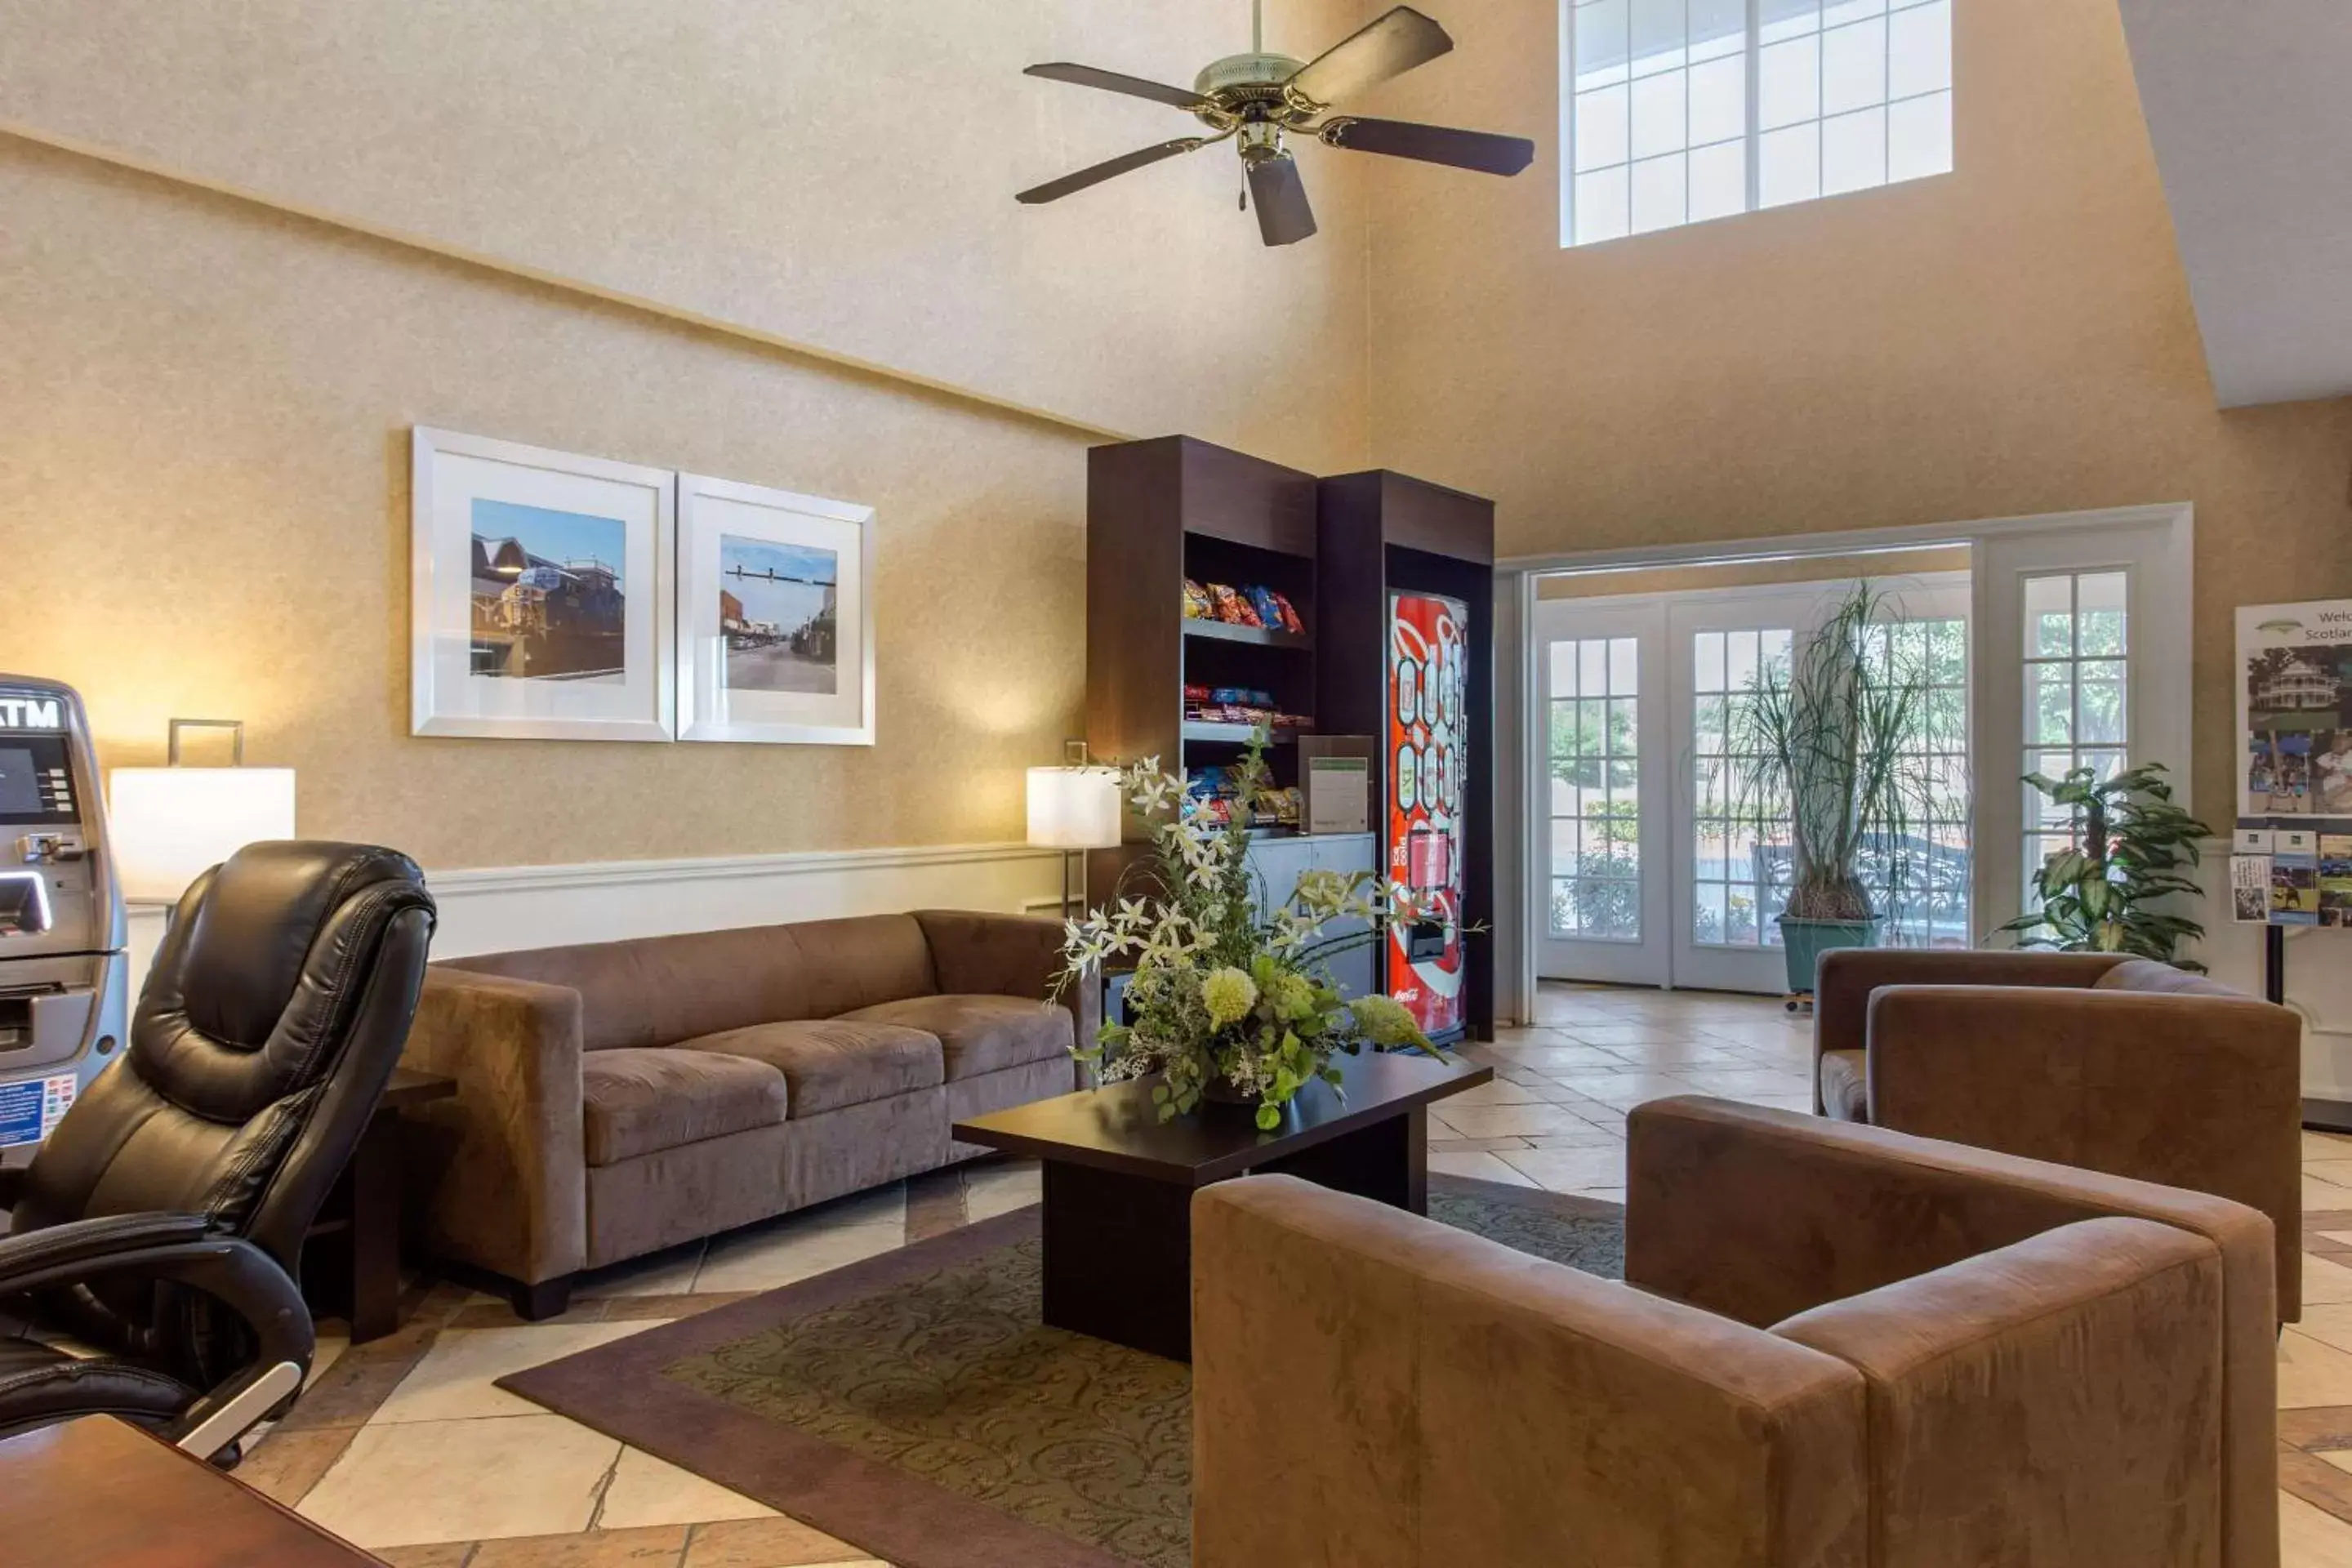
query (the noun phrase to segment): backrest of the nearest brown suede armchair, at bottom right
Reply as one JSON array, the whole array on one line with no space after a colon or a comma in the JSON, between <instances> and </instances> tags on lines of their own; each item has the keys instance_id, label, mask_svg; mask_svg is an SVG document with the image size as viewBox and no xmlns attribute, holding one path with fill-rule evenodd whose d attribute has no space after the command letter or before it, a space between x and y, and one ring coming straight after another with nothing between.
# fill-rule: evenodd
<instances>
[{"instance_id":1,"label":"backrest of the nearest brown suede armchair, at bottom right","mask_svg":"<svg viewBox=\"0 0 2352 1568\"><path fill-rule=\"evenodd\" d=\"M1886 1561L2220 1568L2220 1293L2209 1239L2084 1220L1773 1333L1863 1373Z\"/></svg>"}]
</instances>

